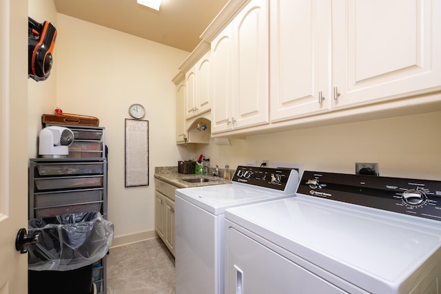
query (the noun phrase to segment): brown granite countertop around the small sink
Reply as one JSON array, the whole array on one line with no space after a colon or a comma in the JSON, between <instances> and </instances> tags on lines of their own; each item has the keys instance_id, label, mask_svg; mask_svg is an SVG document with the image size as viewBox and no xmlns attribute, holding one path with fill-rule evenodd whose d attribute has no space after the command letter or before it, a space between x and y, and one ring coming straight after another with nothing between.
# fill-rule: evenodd
<instances>
[{"instance_id":1,"label":"brown granite countertop around the small sink","mask_svg":"<svg viewBox=\"0 0 441 294\"><path fill-rule=\"evenodd\" d=\"M231 180L224 180L214 176L200 176L196 174L179 174L178 167L155 167L154 177L158 180L168 182L178 188L202 187L210 185L229 184ZM207 179L208 182L187 182L184 179Z\"/></svg>"}]
</instances>

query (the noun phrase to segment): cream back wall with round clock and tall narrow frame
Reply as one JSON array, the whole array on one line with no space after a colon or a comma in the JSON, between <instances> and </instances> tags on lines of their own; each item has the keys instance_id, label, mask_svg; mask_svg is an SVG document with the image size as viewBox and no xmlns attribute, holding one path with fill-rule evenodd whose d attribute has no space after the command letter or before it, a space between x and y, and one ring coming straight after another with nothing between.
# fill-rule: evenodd
<instances>
[{"instance_id":1,"label":"cream back wall with round clock and tall narrow frame","mask_svg":"<svg viewBox=\"0 0 441 294\"><path fill-rule=\"evenodd\" d=\"M105 127L108 218L115 236L154 236L154 167L179 159L172 78L189 52L64 14L58 14L57 30L57 105L96 116ZM143 119L149 120L150 185L126 188L124 125L132 103L144 105Z\"/></svg>"}]
</instances>

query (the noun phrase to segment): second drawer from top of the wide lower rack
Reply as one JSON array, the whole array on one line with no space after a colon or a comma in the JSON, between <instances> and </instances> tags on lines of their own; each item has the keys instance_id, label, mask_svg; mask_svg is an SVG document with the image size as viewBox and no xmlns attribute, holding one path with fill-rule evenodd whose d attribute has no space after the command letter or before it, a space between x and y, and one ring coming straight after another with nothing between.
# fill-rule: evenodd
<instances>
[{"instance_id":1,"label":"second drawer from top of the wide lower rack","mask_svg":"<svg viewBox=\"0 0 441 294\"><path fill-rule=\"evenodd\" d=\"M38 191L103 187L103 176L83 176L76 178L36 178L34 182Z\"/></svg>"}]
</instances>

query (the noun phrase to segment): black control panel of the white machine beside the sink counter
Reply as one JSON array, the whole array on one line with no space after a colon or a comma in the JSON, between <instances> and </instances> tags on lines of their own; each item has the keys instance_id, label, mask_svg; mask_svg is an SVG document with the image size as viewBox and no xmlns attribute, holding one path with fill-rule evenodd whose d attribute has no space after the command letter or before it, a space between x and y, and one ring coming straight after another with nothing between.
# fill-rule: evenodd
<instances>
[{"instance_id":1,"label":"black control panel of the white machine beside the sink counter","mask_svg":"<svg viewBox=\"0 0 441 294\"><path fill-rule=\"evenodd\" d=\"M274 169L269 167L238 166L232 182L266 187L278 191L295 193L298 184L298 172L293 169Z\"/></svg>"}]
</instances>

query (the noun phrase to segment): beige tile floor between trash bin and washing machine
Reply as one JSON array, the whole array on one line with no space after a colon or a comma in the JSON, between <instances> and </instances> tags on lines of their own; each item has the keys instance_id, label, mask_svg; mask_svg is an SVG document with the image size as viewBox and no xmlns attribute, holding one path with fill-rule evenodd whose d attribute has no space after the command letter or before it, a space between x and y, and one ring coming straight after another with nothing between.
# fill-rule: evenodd
<instances>
[{"instance_id":1,"label":"beige tile floor between trash bin and washing machine","mask_svg":"<svg viewBox=\"0 0 441 294\"><path fill-rule=\"evenodd\" d=\"M174 257L160 239L110 249L107 294L174 294Z\"/></svg>"}]
</instances>

